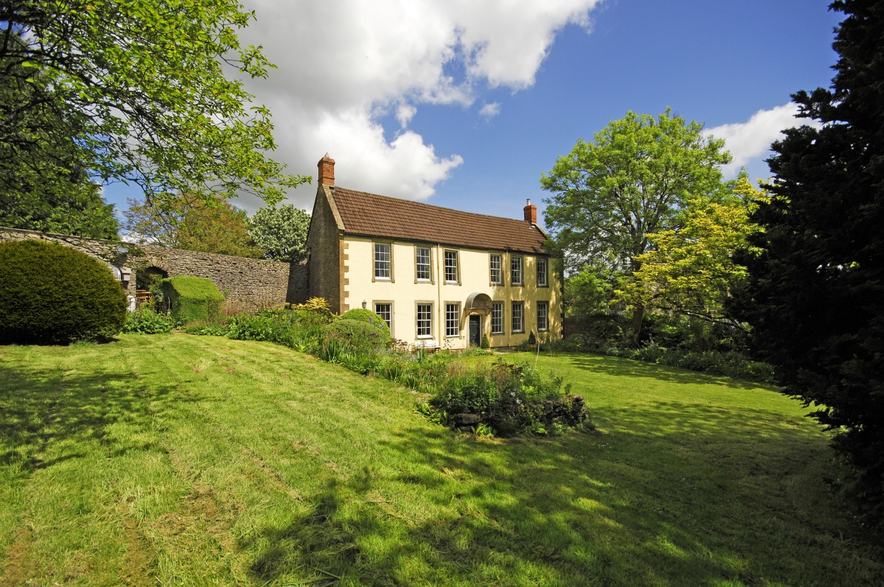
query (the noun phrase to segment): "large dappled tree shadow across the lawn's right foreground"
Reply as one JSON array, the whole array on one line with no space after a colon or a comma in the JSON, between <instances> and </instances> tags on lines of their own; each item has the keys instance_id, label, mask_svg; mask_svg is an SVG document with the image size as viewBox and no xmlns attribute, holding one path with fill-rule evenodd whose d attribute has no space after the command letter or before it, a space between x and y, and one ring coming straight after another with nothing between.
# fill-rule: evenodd
<instances>
[{"instance_id":1,"label":"large dappled tree shadow across the lawn's right foreground","mask_svg":"<svg viewBox=\"0 0 884 587\"><path fill-rule=\"evenodd\" d=\"M330 482L313 515L269 536L256 578L313 568L370 585L884 580L880 547L819 480L825 438L764 410L659 402L610 414L611 432L548 440L401 431L385 443L409 463L392 487L380 495L370 475ZM427 515L403 518L396 493L429 500Z\"/></svg>"}]
</instances>

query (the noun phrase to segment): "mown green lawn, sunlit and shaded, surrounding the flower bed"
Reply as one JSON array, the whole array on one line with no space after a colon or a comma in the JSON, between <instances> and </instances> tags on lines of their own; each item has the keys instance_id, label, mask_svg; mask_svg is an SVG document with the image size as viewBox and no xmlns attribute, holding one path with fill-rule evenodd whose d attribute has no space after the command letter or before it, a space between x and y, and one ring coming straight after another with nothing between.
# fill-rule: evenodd
<instances>
[{"instance_id":1,"label":"mown green lawn, sunlit and shaded, surrounding the flower bed","mask_svg":"<svg viewBox=\"0 0 884 587\"><path fill-rule=\"evenodd\" d=\"M456 435L406 390L269 343L0 347L0 584L884 581L796 402L641 362L538 361L598 432Z\"/></svg>"}]
</instances>

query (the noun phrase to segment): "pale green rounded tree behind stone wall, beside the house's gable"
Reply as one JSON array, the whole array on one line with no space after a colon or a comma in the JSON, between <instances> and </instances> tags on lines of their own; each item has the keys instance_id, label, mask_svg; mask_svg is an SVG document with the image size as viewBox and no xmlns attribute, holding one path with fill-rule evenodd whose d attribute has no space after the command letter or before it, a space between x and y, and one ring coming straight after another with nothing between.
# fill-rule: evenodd
<instances>
[{"instance_id":1,"label":"pale green rounded tree behind stone wall, beside the house's gable","mask_svg":"<svg viewBox=\"0 0 884 587\"><path fill-rule=\"evenodd\" d=\"M248 233L264 257L298 263L307 256L310 215L293 204L263 206L251 217Z\"/></svg>"}]
</instances>

